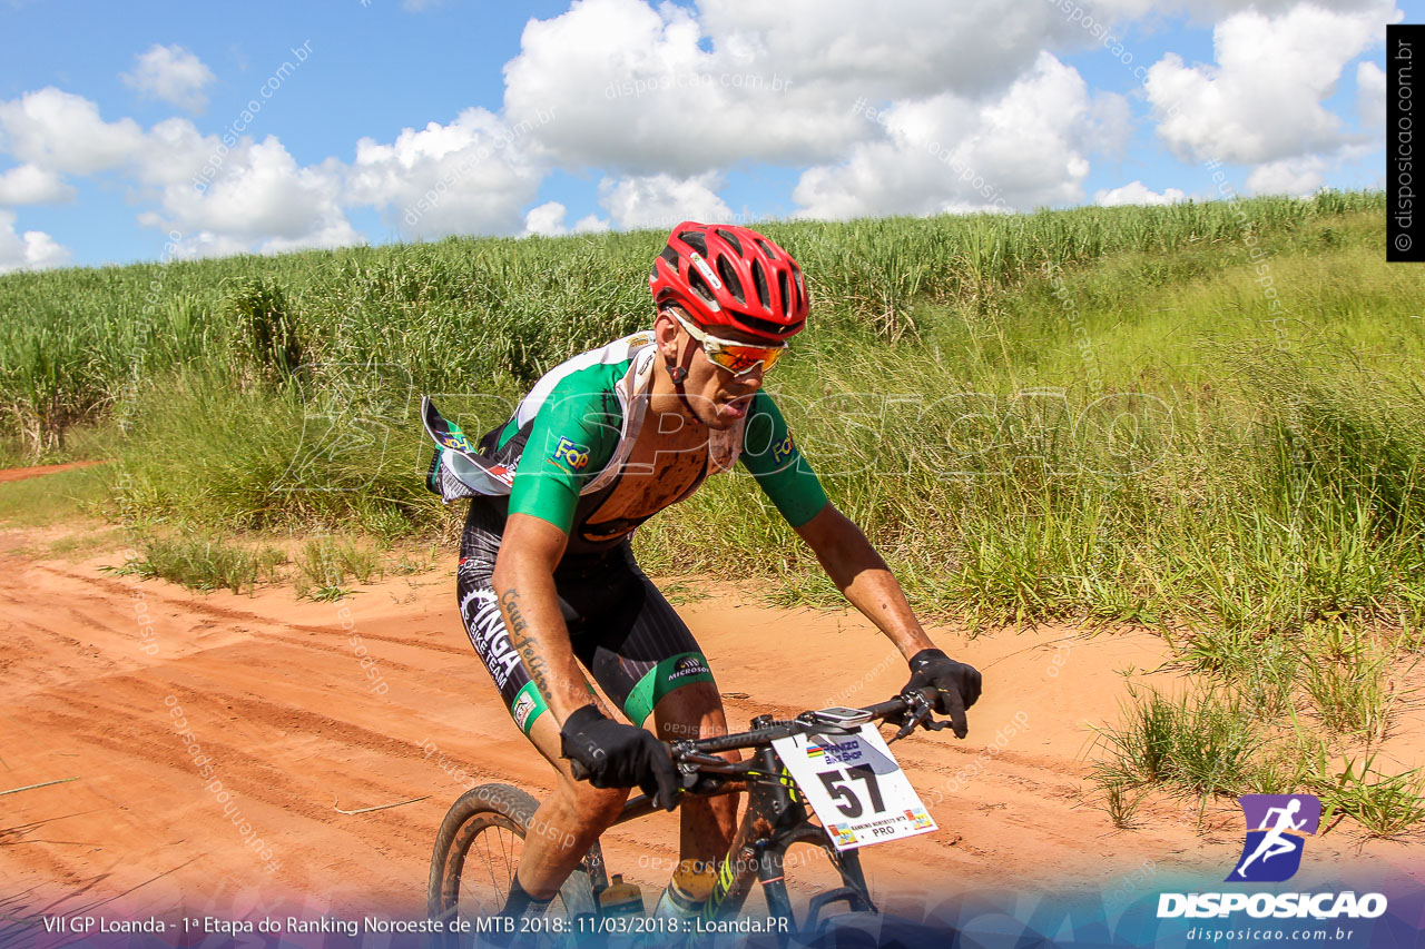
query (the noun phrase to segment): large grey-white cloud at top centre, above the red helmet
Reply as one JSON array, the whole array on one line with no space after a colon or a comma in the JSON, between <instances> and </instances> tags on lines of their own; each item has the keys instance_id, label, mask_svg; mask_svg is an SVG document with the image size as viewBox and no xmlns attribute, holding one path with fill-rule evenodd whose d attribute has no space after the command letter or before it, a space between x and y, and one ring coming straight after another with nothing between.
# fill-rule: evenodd
<instances>
[{"instance_id":1,"label":"large grey-white cloud at top centre, above the red helmet","mask_svg":"<svg viewBox=\"0 0 1425 949\"><path fill-rule=\"evenodd\" d=\"M690 177L740 161L831 162L868 138L858 101L998 94L1046 43L1080 34L1043 0L708 0L695 16L580 0L524 27L504 67L506 114L553 114L532 140L571 170Z\"/></svg>"}]
</instances>

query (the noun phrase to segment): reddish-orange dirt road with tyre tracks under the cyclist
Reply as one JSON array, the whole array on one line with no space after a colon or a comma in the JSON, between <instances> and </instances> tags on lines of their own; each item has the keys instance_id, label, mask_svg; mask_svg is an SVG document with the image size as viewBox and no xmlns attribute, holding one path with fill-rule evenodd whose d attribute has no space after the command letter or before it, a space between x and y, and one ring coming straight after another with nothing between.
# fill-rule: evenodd
<instances>
[{"instance_id":1,"label":"reddish-orange dirt road with tyre tracks under the cyclist","mask_svg":"<svg viewBox=\"0 0 1425 949\"><path fill-rule=\"evenodd\" d=\"M309 603L286 588L204 596L103 573L117 553L14 553L34 540L0 533L0 551L11 551L0 554L0 791L76 779L0 797L7 913L284 903L419 915L435 828L463 789L456 768L536 795L550 787L460 630L453 557L341 603ZM903 661L854 613L761 608L715 588L681 610L720 688L750 697L727 700L734 724L879 701L905 681ZM375 667L363 668L353 633ZM1159 637L933 634L983 670L985 697L968 741L940 732L896 745L940 831L862 852L882 902L952 888L1104 891L1146 866L1221 879L1231 868L1241 846L1231 802L1208 811L1200 836L1196 805L1156 798L1141 829L1119 832L1086 797L1089 725L1117 718L1123 670L1167 658ZM1425 722L1409 715L1399 731L1414 744L1392 754L1418 762ZM423 795L359 815L333 808ZM675 844L668 815L604 838L611 869L654 893ZM1412 862L1404 844L1355 845L1345 832L1312 841L1300 879Z\"/></svg>"}]
</instances>

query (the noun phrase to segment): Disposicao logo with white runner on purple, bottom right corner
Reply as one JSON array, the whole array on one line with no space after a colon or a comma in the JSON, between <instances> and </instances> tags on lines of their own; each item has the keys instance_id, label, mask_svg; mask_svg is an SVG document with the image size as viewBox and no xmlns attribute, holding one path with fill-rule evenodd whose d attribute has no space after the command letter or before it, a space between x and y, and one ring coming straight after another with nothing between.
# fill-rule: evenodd
<instances>
[{"instance_id":1,"label":"Disposicao logo with white runner on purple, bottom right corner","mask_svg":"<svg viewBox=\"0 0 1425 949\"><path fill-rule=\"evenodd\" d=\"M1224 882L1280 883L1301 869L1308 835L1321 824L1321 801L1311 794L1244 794L1237 798L1247 818L1243 855ZM1245 911L1254 919L1375 919L1387 908L1384 893L1160 893L1159 919L1221 919Z\"/></svg>"}]
</instances>

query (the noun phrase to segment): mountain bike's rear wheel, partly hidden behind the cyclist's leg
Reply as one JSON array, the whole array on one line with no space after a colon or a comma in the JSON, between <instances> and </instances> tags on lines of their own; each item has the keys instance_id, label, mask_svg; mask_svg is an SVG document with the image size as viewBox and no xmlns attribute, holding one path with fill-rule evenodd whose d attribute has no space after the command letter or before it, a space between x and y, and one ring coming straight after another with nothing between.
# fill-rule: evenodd
<instances>
[{"instance_id":1,"label":"mountain bike's rear wheel, partly hidden behind the cyclist's leg","mask_svg":"<svg viewBox=\"0 0 1425 949\"><path fill-rule=\"evenodd\" d=\"M430 854L428 909L432 919L463 918L465 932L480 932L480 918L500 912L524 852L524 835L539 801L507 784L482 784L450 807ZM598 844L569 875L550 913L574 919L597 913L591 866L601 866Z\"/></svg>"}]
</instances>

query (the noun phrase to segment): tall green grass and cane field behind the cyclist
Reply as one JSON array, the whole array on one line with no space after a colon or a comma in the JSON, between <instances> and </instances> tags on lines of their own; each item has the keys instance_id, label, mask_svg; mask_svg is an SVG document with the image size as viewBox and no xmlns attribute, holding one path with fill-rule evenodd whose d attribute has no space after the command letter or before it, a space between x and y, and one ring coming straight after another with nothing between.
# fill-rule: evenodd
<instances>
[{"instance_id":1,"label":"tall green grass and cane field behind the cyclist","mask_svg":"<svg viewBox=\"0 0 1425 949\"><path fill-rule=\"evenodd\" d=\"M1147 626L1198 683L1102 735L1114 819L1143 788L1324 781L1301 722L1332 754L1389 735L1425 648L1425 272L1382 261L1384 211L1324 192L764 228L814 301L767 385L916 610ZM503 422L540 373L651 321L664 237L7 275L0 446L103 443L110 513L134 523L450 546L463 512L423 490L418 396L467 432ZM650 571L841 601L745 474L636 549ZM302 563L308 596L362 573L335 547ZM1415 785L1391 781L1369 787L1395 812Z\"/></svg>"}]
</instances>

